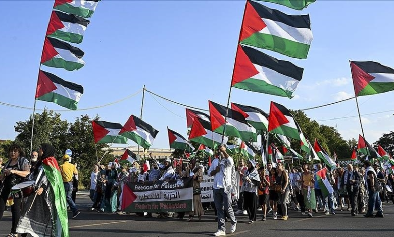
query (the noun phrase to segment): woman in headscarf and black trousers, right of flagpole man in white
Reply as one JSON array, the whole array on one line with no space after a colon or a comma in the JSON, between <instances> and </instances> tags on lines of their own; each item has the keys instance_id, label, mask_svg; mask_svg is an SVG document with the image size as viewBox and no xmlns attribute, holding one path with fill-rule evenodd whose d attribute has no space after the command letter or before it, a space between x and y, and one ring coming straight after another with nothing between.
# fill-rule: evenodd
<instances>
[{"instance_id":1,"label":"woman in headscarf and black trousers, right of flagpole man in white","mask_svg":"<svg viewBox=\"0 0 394 237\"><path fill-rule=\"evenodd\" d=\"M248 223L253 224L256 221L257 187L260 185L260 177L256 170L256 161L248 160L247 167L240 192L243 192L243 208L248 212Z\"/></svg>"}]
</instances>

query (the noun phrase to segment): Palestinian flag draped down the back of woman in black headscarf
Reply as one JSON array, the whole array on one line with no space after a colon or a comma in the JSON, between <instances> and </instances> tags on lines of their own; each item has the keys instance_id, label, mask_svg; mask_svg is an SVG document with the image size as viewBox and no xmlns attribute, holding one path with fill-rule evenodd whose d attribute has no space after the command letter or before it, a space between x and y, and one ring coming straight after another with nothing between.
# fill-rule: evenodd
<instances>
[{"instance_id":1,"label":"Palestinian flag draped down the back of woman in black headscarf","mask_svg":"<svg viewBox=\"0 0 394 237\"><path fill-rule=\"evenodd\" d=\"M68 215L67 215L67 202L66 202L66 192L64 190L62 174L60 173L60 168L58 162L54 157L48 157L43 161L43 170L45 175L51 184L52 190L54 192L54 209L53 211L56 215L53 215L54 223L57 236L68 237L70 236L68 230Z\"/></svg>"}]
</instances>

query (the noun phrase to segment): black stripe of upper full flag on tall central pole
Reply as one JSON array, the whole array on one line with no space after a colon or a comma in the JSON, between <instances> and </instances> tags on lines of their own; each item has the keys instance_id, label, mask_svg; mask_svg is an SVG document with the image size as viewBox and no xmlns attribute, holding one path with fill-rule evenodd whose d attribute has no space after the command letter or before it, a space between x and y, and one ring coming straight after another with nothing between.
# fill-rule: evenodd
<instances>
[{"instance_id":1,"label":"black stripe of upper full flag on tall central pole","mask_svg":"<svg viewBox=\"0 0 394 237\"><path fill-rule=\"evenodd\" d=\"M309 15L287 15L279 10L268 8L264 5L250 0L248 1L261 18L270 19L276 22L282 22L288 26L296 28L311 29L311 20L309 19Z\"/></svg>"}]
</instances>

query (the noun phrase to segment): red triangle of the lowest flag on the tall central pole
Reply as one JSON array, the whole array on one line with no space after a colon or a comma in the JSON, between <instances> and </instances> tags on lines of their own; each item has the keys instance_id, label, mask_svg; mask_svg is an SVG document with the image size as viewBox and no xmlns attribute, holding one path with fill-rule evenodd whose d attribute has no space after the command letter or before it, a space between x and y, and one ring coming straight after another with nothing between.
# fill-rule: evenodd
<instances>
[{"instance_id":1,"label":"red triangle of the lowest flag on the tall central pole","mask_svg":"<svg viewBox=\"0 0 394 237\"><path fill-rule=\"evenodd\" d=\"M258 74L259 71L252 64L249 57L243 51L240 44L238 44L237 55L235 56L235 67L234 67L234 75L232 77L231 86L235 84L253 77Z\"/></svg>"}]
</instances>

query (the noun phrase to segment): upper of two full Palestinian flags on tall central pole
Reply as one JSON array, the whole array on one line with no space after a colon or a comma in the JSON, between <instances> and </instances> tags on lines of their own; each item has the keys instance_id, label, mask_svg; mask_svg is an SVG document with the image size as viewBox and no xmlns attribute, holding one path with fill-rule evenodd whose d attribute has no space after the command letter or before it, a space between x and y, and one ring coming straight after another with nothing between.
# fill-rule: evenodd
<instances>
[{"instance_id":1,"label":"upper of two full Palestinian flags on tall central pole","mask_svg":"<svg viewBox=\"0 0 394 237\"><path fill-rule=\"evenodd\" d=\"M309 15L287 15L248 0L240 43L294 58L307 58L313 39Z\"/></svg>"}]
</instances>

